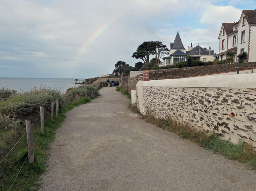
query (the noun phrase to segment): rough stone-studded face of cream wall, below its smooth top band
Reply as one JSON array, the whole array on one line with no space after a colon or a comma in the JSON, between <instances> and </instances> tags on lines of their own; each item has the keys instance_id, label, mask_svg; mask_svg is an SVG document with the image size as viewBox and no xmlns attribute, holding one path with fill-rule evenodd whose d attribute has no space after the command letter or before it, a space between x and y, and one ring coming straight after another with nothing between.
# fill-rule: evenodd
<instances>
[{"instance_id":1,"label":"rough stone-studded face of cream wall, below its smooth top band","mask_svg":"<svg viewBox=\"0 0 256 191\"><path fill-rule=\"evenodd\" d=\"M143 106L156 117L171 116L256 147L256 88L143 87Z\"/></svg>"}]
</instances>

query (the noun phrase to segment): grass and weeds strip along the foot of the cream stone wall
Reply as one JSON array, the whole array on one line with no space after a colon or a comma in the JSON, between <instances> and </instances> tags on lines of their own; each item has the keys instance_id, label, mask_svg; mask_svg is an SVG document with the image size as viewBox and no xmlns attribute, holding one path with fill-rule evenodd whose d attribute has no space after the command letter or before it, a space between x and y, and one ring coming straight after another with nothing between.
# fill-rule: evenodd
<instances>
[{"instance_id":1,"label":"grass and weeds strip along the foot of the cream stone wall","mask_svg":"<svg viewBox=\"0 0 256 191\"><path fill-rule=\"evenodd\" d=\"M153 114L142 115L137 106L129 106L129 109L140 114L140 118L147 123L173 132L183 139L194 141L204 149L212 150L214 153L219 153L228 159L243 162L248 169L256 170L256 152L251 145L244 141L233 144L230 141L222 140L214 132L198 131L188 124L176 122L170 117L163 119L155 118Z\"/></svg>"}]
</instances>

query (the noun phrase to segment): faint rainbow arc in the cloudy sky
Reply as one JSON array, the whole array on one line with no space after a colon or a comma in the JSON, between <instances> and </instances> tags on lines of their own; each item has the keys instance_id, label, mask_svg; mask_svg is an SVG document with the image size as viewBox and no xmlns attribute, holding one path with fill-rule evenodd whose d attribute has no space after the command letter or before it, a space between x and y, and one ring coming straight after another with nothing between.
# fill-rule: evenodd
<instances>
[{"instance_id":1,"label":"faint rainbow arc in the cloudy sky","mask_svg":"<svg viewBox=\"0 0 256 191\"><path fill-rule=\"evenodd\" d=\"M127 8L126 8L127 10ZM121 10L119 12L117 12L116 14L114 14L113 16L109 17L107 19L107 21L102 24L99 28L97 28L97 30L95 30L93 32L93 35L90 36L88 39L86 39L86 41L83 43L83 46L79 49L79 52L76 54L75 59L78 59L83 52L85 52L88 47L94 42L96 41L96 39L103 34L103 32L105 32L107 30L107 28L113 24L125 11Z\"/></svg>"}]
</instances>

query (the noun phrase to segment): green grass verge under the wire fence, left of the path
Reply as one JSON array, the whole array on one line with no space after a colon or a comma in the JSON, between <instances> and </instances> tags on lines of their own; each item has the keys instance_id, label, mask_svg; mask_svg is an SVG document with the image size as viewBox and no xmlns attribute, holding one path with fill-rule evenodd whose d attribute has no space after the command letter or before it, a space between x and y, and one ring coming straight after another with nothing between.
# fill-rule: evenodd
<instances>
[{"instance_id":1,"label":"green grass verge under the wire fence, left of the path","mask_svg":"<svg viewBox=\"0 0 256 191\"><path fill-rule=\"evenodd\" d=\"M0 190L7 191L10 189L23 163L24 166L22 167L19 176L16 178L11 190L28 191L40 188L41 183L38 178L39 175L47 169L49 143L54 140L56 130L61 126L62 122L66 118L64 113L72 110L78 105L88 103L96 97L98 96L90 96L88 98L79 97L78 103L74 101L67 104L65 108L60 108L58 117L54 115L53 122L51 122L50 119L46 120L45 133L43 135L40 133L40 120L38 120L34 126L32 126L34 142L39 134L34 145L35 163L29 164L28 160L24 163L28 155L27 139L25 135L8 157L0 164ZM49 116L50 113L45 111L45 119ZM14 144L20 139L21 135L25 132L25 128L20 129L19 133L16 131L1 132L0 147L5 148L6 150L11 150ZM1 159L2 158L3 156L1 156Z\"/></svg>"}]
</instances>

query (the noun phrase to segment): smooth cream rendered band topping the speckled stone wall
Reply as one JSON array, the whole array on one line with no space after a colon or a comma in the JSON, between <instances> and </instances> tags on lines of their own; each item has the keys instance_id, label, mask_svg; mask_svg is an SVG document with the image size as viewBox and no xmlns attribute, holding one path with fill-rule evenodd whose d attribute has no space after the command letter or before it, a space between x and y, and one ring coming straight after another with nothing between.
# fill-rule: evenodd
<instances>
[{"instance_id":1,"label":"smooth cream rendered band topping the speckled stone wall","mask_svg":"<svg viewBox=\"0 0 256 191\"><path fill-rule=\"evenodd\" d=\"M191 76L192 77L192 76ZM256 74L143 81L144 87L256 88Z\"/></svg>"}]
</instances>

